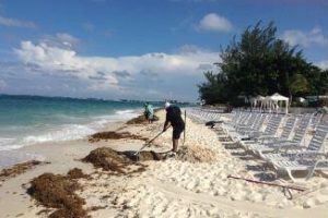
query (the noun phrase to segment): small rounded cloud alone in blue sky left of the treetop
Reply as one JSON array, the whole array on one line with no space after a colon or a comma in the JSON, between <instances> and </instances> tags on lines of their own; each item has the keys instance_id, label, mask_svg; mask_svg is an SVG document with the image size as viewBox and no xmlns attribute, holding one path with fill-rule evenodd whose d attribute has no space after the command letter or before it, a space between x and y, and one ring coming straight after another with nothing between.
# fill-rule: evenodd
<instances>
[{"instance_id":1,"label":"small rounded cloud alone in blue sky left of the treetop","mask_svg":"<svg viewBox=\"0 0 328 218\"><path fill-rule=\"evenodd\" d=\"M213 32L230 32L232 31L233 25L224 16L216 13L209 13L200 20L198 28Z\"/></svg>"}]
</instances>

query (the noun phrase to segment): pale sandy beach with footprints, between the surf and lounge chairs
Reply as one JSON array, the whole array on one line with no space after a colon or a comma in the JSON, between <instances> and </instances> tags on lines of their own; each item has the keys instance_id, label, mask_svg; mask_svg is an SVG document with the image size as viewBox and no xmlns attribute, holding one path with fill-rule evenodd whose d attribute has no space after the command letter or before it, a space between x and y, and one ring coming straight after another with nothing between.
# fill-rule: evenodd
<instances>
[{"instance_id":1,"label":"pale sandy beach with footprints, between the surf and lounge chairs","mask_svg":"<svg viewBox=\"0 0 328 218\"><path fill-rule=\"evenodd\" d=\"M273 171L261 169L261 161L243 149L220 142L218 134L187 118L186 138L180 140L177 157L139 161L124 167L122 173L82 161L92 150L106 147L118 152L138 150L148 138L163 129L165 111L151 124L110 123L102 131L128 132L124 138L73 140L23 147L42 155L42 164L0 181L0 214L3 217L48 217L55 209L45 207L27 194L30 182L49 172L66 174L79 168L86 178L77 179L81 189L74 194L84 199L83 209L91 217L326 217L328 179L316 173L306 183L270 180ZM172 148L172 130L145 150L157 154ZM185 141L184 145L183 142ZM140 170L134 170L134 168ZM291 184L306 191L249 183L229 175ZM326 216L325 216L326 215Z\"/></svg>"}]
</instances>

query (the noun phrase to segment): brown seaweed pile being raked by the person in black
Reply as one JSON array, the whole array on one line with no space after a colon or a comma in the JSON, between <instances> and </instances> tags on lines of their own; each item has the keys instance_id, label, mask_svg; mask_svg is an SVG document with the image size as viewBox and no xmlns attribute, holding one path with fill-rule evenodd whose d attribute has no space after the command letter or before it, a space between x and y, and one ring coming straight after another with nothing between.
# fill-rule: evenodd
<instances>
[{"instance_id":1,"label":"brown seaweed pile being raked by the person in black","mask_svg":"<svg viewBox=\"0 0 328 218\"><path fill-rule=\"evenodd\" d=\"M99 147L92 150L82 161L91 162L96 168L117 173L133 173L145 169L145 166L136 162L147 160L161 160L162 156L154 152L141 152L138 156L136 152L116 152L109 147ZM131 169L131 167L134 169Z\"/></svg>"}]
</instances>

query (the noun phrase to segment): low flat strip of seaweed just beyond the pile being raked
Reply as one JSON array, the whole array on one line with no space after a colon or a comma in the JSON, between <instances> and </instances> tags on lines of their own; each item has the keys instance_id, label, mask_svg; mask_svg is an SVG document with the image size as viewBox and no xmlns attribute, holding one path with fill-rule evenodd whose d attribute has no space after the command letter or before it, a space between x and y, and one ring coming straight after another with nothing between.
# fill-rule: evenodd
<instances>
[{"instance_id":1,"label":"low flat strip of seaweed just beyond the pile being raked","mask_svg":"<svg viewBox=\"0 0 328 218\"><path fill-rule=\"evenodd\" d=\"M121 140L121 138L131 138L131 140L141 140L141 141L148 141L147 137L143 137L141 135L134 135L129 132L115 132L115 131L108 131L108 132L99 132L91 135L89 137L89 142L99 142L101 140Z\"/></svg>"}]
</instances>

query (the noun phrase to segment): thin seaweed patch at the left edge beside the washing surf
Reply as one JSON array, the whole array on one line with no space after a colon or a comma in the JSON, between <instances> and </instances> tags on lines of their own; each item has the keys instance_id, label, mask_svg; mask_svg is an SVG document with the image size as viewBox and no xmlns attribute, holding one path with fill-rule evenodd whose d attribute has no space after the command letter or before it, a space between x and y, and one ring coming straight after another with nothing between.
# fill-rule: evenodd
<instances>
[{"instance_id":1,"label":"thin seaweed patch at the left edge beside the washing surf","mask_svg":"<svg viewBox=\"0 0 328 218\"><path fill-rule=\"evenodd\" d=\"M22 173L26 172L27 170L34 168L35 166L38 166L42 164L47 164L47 162L43 162L43 161L38 161L38 160L30 160L26 162L21 162L21 164L14 165L11 168L1 170L0 180L4 181L9 178L14 178L14 177L22 174Z\"/></svg>"}]
</instances>

